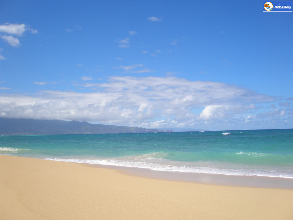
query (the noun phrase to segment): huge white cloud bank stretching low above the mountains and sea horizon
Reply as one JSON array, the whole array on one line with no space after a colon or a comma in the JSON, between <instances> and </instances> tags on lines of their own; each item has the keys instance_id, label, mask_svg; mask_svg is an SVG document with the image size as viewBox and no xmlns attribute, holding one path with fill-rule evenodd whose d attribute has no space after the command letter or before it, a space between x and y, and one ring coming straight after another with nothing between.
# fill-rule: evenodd
<instances>
[{"instance_id":1,"label":"huge white cloud bank stretching low above the mountains and sea horizon","mask_svg":"<svg viewBox=\"0 0 293 220\"><path fill-rule=\"evenodd\" d=\"M143 66L120 68L127 72ZM219 121L222 124L224 121L247 125L250 123L245 121L286 116L285 109L258 112L261 103L276 101L275 97L221 82L190 81L178 77L116 76L109 77L104 83L86 83L83 86L95 87L99 92L44 90L31 95L2 92L1 114L6 117L99 121L147 128L202 128L209 125L209 130Z\"/></svg>"}]
</instances>

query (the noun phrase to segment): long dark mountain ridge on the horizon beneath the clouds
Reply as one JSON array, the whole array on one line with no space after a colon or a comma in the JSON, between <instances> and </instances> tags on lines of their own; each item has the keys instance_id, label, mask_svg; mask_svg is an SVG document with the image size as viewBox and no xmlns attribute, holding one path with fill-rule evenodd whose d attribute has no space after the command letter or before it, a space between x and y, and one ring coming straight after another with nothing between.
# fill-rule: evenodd
<instances>
[{"instance_id":1,"label":"long dark mountain ridge on the horizon beneath the clouds","mask_svg":"<svg viewBox=\"0 0 293 220\"><path fill-rule=\"evenodd\" d=\"M91 124L86 121L0 118L0 135L109 134L172 132L138 127Z\"/></svg>"}]
</instances>

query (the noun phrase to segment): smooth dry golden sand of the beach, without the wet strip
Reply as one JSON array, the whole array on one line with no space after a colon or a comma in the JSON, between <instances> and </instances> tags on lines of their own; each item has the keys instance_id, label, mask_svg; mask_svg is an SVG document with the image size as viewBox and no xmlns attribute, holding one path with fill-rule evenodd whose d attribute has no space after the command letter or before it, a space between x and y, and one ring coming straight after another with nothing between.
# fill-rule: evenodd
<instances>
[{"instance_id":1,"label":"smooth dry golden sand of the beach, without the wet strip","mask_svg":"<svg viewBox=\"0 0 293 220\"><path fill-rule=\"evenodd\" d=\"M293 190L158 180L1 155L1 220L293 219Z\"/></svg>"}]
</instances>

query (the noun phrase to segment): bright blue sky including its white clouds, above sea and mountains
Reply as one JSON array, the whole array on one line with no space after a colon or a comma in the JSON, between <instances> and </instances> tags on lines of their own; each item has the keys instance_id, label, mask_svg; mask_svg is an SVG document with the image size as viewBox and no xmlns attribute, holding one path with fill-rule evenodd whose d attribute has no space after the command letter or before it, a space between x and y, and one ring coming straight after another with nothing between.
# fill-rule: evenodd
<instances>
[{"instance_id":1,"label":"bright blue sky including its white clouds, above sea and mountains","mask_svg":"<svg viewBox=\"0 0 293 220\"><path fill-rule=\"evenodd\" d=\"M263 1L0 1L1 116L292 128L292 12Z\"/></svg>"}]
</instances>

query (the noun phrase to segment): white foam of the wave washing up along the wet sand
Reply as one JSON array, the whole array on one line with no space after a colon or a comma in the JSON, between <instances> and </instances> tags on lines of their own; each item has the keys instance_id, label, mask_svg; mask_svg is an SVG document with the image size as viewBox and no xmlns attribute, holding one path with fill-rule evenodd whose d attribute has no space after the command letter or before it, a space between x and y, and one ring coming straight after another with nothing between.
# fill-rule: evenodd
<instances>
[{"instance_id":1,"label":"white foam of the wave washing up along the wet sand","mask_svg":"<svg viewBox=\"0 0 293 220\"><path fill-rule=\"evenodd\" d=\"M240 154L243 152L239 152ZM268 169L268 167L258 168L241 166L236 164L219 164L212 161L199 162L179 162L162 158L144 155L141 157L130 158L98 158L98 159L75 159L75 158L46 158L47 160L58 160L75 163L89 163L100 165L114 165L121 167L146 168L158 171L173 172L192 172L192 173L209 173L224 175L241 175L241 176L266 176L266 177L284 177L293 178L293 172L282 172L282 170Z\"/></svg>"}]
</instances>

